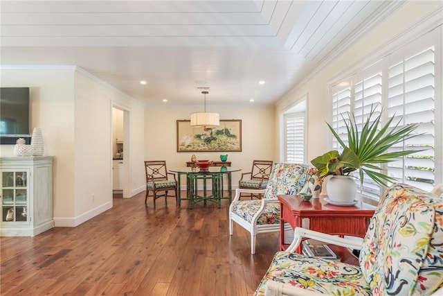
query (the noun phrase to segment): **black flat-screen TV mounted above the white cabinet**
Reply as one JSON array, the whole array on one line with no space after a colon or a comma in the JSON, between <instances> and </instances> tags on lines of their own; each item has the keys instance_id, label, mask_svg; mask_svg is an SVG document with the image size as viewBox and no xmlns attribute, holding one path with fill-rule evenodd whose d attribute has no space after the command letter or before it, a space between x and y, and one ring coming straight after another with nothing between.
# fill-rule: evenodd
<instances>
[{"instance_id":1,"label":"black flat-screen TV mounted above the white cabinet","mask_svg":"<svg viewBox=\"0 0 443 296\"><path fill-rule=\"evenodd\" d=\"M0 87L0 143L30 137L29 87Z\"/></svg>"}]
</instances>

